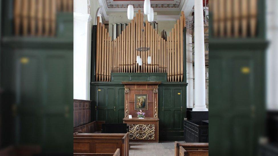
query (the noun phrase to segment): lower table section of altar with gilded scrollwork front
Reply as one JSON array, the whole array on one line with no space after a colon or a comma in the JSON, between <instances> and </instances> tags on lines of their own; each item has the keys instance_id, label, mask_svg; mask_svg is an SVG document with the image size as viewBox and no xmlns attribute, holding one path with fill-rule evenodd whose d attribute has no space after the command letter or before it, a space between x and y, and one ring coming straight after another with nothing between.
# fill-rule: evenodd
<instances>
[{"instance_id":1,"label":"lower table section of altar with gilded scrollwork front","mask_svg":"<svg viewBox=\"0 0 278 156\"><path fill-rule=\"evenodd\" d=\"M124 118L129 125L129 141L158 142L158 118Z\"/></svg>"}]
</instances>

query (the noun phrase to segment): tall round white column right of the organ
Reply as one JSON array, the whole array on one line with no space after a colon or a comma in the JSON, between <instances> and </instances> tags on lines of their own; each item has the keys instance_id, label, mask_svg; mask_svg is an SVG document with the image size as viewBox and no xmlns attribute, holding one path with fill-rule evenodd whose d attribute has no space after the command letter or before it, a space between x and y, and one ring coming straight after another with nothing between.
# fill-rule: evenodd
<instances>
[{"instance_id":1,"label":"tall round white column right of the organ","mask_svg":"<svg viewBox=\"0 0 278 156\"><path fill-rule=\"evenodd\" d=\"M208 111L205 86L205 40L203 22L203 0L194 3L194 74L195 106L193 111Z\"/></svg>"}]
</instances>

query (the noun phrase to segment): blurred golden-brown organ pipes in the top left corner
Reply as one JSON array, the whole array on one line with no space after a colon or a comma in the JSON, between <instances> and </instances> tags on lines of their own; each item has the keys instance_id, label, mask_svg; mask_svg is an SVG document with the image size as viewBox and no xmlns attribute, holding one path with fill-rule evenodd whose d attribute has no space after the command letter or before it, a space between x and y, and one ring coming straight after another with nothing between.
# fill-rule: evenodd
<instances>
[{"instance_id":1,"label":"blurred golden-brown organ pipes in the top left corner","mask_svg":"<svg viewBox=\"0 0 278 156\"><path fill-rule=\"evenodd\" d=\"M73 0L14 0L15 35L54 36L57 12L73 12Z\"/></svg>"}]
</instances>

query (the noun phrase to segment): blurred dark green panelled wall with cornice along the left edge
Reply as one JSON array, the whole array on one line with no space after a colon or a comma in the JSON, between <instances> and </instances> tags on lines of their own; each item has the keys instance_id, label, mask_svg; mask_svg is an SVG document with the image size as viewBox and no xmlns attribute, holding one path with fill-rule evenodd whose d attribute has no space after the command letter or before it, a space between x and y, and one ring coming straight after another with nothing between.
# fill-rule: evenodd
<instances>
[{"instance_id":1,"label":"blurred dark green panelled wall with cornice along the left edge","mask_svg":"<svg viewBox=\"0 0 278 156\"><path fill-rule=\"evenodd\" d=\"M72 154L73 13L58 14L56 37L15 37L13 1L2 2L1 90L9 98L1 97L7 111L0 115L9 124L1 123L1 147Z\"/></svg>"}]
</instances>

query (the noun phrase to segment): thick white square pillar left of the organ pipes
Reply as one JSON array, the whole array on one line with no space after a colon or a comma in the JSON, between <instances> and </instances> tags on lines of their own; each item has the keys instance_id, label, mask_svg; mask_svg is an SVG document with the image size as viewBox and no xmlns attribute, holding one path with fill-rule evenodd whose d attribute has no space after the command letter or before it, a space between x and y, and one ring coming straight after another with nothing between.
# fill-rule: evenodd
<instances>
[{"instance_id":1,"label":"thick white square pillar left of the organ pipes","mask_svg":"<svg viewBox=\"0 0 278 156\"><path fill-rule=\"evenodd\" d=\"M73 99L90 100L91 19L73 13Z\"/></svg>"}]
</instances>

